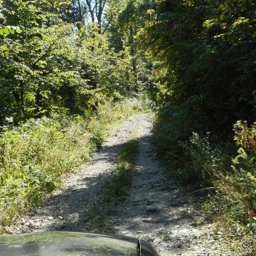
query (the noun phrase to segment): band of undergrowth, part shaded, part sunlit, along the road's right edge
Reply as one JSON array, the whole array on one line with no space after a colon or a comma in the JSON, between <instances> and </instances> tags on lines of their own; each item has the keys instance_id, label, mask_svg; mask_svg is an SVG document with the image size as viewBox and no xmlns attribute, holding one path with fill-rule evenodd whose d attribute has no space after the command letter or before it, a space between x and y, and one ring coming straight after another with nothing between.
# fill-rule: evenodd
<instances>
[{"instance_id":1,"label":"band of undergrowth, part shaded, part sunlit, along the road's right edge","mask_svg":"<svg viewBox=\"0 0 256 256\"><path fill-rule=\"evenodd\" d=\"M256 255L256 123L234 125L234 141L214 143L210 133L197 133L192 120L162 112L154 124L161 154L171 176L205 193L202 210L226 234L234 255ZM235 143L234 143L235 142ZM221 143L221 144L220 144ZM236 144L236 145L235 145ZM224 145L224 146L223 146ZM197 193L198 195L198 193Z\"/></svg>"}]
</instances>

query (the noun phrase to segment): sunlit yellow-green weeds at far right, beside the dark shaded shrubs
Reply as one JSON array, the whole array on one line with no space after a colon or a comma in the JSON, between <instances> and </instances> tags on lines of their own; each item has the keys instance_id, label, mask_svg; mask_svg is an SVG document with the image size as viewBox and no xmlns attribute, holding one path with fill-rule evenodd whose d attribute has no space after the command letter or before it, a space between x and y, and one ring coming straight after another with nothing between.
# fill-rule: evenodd
<instances>
[{"instance_id":1,"label":"sunlit yellow-green weeds at far right, beside the dark shaded shrubs","mask_svg":"<svg viewBox=\"0 0 256 256\"><path fill-rule=\"evenodd\" d=\"M233 172L222 176L217 183L230 205L227 217L256 231L256 123L248 128L246 122L239 121L234 125L234 131L239 149L233 159Z\"/></svg>"}]
</instances>

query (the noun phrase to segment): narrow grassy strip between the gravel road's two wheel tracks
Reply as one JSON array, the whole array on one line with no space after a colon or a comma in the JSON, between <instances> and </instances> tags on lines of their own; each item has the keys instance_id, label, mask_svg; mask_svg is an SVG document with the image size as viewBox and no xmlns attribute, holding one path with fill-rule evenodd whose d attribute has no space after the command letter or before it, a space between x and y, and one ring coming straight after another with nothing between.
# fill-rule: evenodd
<instances>
[{"instance_id":1,"label":"narrow grassy strip between the gravel road's two wheel tracks","mask_svg":"<svg viewBox=\"0 0 256 256\"><path fill-rule=\"evenodd\" d=\"M138 144L136 133L132 133L131 139L123 144L123 148L118 154L117 168L105 188L104 202L115 202L125 196L125 188L131 185L133 174L136 172Z\"/></svg>"}]
</instances>

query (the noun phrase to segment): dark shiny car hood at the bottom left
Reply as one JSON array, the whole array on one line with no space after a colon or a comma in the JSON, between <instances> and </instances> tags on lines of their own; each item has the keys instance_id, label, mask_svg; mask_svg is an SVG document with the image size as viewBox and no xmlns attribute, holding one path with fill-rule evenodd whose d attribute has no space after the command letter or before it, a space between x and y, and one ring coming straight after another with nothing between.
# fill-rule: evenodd
<instances>
[{"instance_id":1,"label":"dark shiny car hood at the bottom left","mask_svg":"<svg viewBox=\"0 0 256 256\"><path fill-rule=\"evenodd\" d=\"M0 236L0 256L157 256L146 241L128 236L42 232Z\"/></svg>"}]
</instances>

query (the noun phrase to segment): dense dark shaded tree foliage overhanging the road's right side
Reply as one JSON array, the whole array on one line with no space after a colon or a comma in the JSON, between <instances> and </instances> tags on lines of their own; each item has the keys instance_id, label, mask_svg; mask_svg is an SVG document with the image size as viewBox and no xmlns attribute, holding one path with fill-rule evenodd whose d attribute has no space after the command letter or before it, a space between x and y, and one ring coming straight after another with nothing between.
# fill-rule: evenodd
<instances>
[{"instance_id":1,"label":"dense dark shaded tree foliage overhanging the road's right side","mask_svg":"<svg viewBox=\"0 0 256 256\"><path fill-rule=\"evenodd\" d=\"M252 0L152 1L138 40L157 64L149 87L157 106L186 111L183 102L197 97L199 120L190 123L218 140L236 120L252 120L254 9Z\"/></svg>"}]
</instances>

